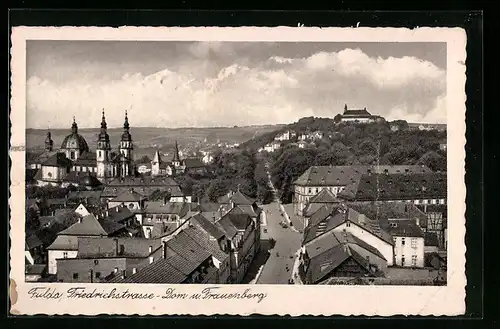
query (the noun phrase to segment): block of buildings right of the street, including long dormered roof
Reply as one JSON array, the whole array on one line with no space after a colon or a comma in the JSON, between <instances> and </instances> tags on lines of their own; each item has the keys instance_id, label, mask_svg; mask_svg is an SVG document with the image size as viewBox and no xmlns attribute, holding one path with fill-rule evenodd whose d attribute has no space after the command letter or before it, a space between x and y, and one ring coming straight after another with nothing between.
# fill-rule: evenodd
<instances>
[{"instance_id":1,"label":"block of buildings right of the street, including long dormered roof","mask_svg":"<svg viewBox=\"0 0 500 329\"><path fill-rule=\"evenodd\" d=\"M446 173L421 166L309 168L294 198L305 227L302 281L446 269L446 186Z\"/></svg>"}]
</instances>

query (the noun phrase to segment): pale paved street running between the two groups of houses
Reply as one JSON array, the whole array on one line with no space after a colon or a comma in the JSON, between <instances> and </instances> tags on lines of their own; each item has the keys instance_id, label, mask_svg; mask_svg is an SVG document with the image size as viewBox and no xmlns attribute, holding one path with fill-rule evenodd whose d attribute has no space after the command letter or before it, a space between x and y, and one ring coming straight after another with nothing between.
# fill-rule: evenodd
<instances>
[{"instance_id":1,"label":"pale paved street running between the two groups of houses","mask_svg":"<svg viewBox=\"0 0 500 329\"><path fill-rule=\"evenodd\" d=\"M264 264L257 283L287 284L292 276L294 254L300 248L302 236L290 228L283 228L279 225L283 217L281 217L278 203L273 202L264 205L263 208L267 213L267 233L262 234L262 239L273 238L276 244L269 250L270 256Z\"/></svg>"}]
</instances>

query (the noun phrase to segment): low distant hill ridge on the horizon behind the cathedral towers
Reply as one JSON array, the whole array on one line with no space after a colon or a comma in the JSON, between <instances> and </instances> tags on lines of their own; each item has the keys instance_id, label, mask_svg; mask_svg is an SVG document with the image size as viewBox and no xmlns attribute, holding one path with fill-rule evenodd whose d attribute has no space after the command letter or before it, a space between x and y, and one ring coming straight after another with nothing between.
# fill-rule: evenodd
<instances>
[{"instance_id":1,"label":"low distant hill ridge on the horizon behind the cathedral towers","mask_svg":"<svg viewBox=\"0 0 500 329\"><path fill-rule=\"evenodd\" d=\"M279 129L282 125L265 125L265 126L245 126L245 127L215 127L215 128L148 128L148 127L131 127L130 133L134 139L134 144L137 149L136 156L149 154L153 150L170 150L175 140L180 146L194 145L203 142L216 143L231 142L243 143L253 137L261 136L270 131ZM97 144L97 136L99 128L78 129L87 140L89 147L95 150ZM68 129L51 129L52 140L54 147L59 148L61 143L71 130ZM123 130L121 128L108 129L108 134L111 139L113 148L117 147L118 141ZM47 135L45 129L26 129L26 149L37 150L44 147L44 140Z\"/></svg>"}]
</instances>

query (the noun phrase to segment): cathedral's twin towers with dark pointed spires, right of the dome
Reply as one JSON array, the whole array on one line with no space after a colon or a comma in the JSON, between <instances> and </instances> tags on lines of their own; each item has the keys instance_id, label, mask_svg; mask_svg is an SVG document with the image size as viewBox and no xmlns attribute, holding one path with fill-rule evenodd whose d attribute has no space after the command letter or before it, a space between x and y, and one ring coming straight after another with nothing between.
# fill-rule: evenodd
<instances>
[{"instance_id":1,"label":"cathedral's twin towers with dark pointed spires, right of the dome","mask_svg":"<svg viewBox=\"0 0 500 329\"><path fill-rule=\"evenodd\" d=\"M111 143L107 130L108 125L103 110L101 132L99 133L96 149L97 178L105 180L107 178L135 175L134 144L132 135L130 135L127 112L125 111L125 122L123 123L123 133L118 145L118 154L111 152Z\"/></svg>"}]
</instances>

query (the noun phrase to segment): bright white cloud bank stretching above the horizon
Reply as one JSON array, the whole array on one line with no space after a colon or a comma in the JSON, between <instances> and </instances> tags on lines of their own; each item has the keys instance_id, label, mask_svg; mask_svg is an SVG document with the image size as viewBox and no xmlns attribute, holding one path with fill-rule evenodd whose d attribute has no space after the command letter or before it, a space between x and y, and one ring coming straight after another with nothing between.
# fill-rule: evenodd
<instances>
[{"instance_id":1,"label":"bright white cloud bank stretching above the horizon","mask_svg":"<svg viewBox=\"0 0 500 329\"><path fill-rule=\"evenodd\" d=\"M274 56L253 64L207 61L209 53L225 56L234 47L241 51L248 43L195 43L189 46L194 57L150 75L76 76L65 83L32 76L27 125L70 127L75 115L80 127L98 127L102 108L114 127L123 124L126 109L132 126L288 123L304 116L334 117L345 103L388 119L446 122L446 72L430 62L372 58L358 49Z\"/></svg>"}]
</instances>

